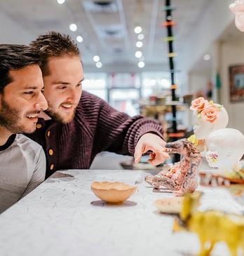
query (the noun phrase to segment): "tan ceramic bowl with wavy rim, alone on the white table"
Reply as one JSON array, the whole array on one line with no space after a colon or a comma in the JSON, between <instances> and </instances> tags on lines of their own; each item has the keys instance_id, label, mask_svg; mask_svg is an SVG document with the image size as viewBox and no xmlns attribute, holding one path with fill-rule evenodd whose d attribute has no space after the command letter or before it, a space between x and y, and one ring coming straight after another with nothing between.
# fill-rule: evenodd
<instances>
[{"instance_id":1,"label":"tan ceramic bowl with wavy rim, alone on the white table","mask_svg":"<svg viewBox=\"0 0 244 256\"><path fill-rule=\"evenodd\" d=\"M93 193L107 203L123 203L135 193L137 187L123 182L93 182L90 186Z\"/></svg>"}]
</instances>

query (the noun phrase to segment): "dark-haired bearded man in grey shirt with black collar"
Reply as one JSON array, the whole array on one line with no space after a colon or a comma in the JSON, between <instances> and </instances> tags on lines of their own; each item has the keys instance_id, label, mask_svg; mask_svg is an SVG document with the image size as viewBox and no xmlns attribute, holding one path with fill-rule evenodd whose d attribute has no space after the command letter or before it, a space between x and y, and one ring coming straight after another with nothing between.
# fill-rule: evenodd
<instances>
[{"instance_id":1,"label":"dark-haired bearded man in grey shirt with black collar","mask_svg":"<svg viewBox=\"0 0 244 256\"><path fill-rule=\"evenodd\" d=\"M18 134L33 133L37 115L48 107L39 62L29 46L0 45L0 213L45 177L43 149Z\"/></svg>"}]
</instances>

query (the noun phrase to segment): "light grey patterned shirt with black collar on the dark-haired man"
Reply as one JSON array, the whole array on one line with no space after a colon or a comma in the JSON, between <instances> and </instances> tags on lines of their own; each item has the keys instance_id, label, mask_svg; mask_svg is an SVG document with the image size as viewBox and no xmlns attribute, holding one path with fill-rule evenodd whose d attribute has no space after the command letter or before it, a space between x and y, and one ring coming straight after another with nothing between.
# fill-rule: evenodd
<instances>
[{"instance_id":1,"label":"light grey patterned shirt with black collar on the dark-haired man","mask_svg":"<svg viewBox=\"0 0 244 256\"><path fill-rule=\"evenodd\" d=\"M11 137L0 151L0 213L41 184L46 173L42 147L25 135Z\"/></svg>"}]
</instances>

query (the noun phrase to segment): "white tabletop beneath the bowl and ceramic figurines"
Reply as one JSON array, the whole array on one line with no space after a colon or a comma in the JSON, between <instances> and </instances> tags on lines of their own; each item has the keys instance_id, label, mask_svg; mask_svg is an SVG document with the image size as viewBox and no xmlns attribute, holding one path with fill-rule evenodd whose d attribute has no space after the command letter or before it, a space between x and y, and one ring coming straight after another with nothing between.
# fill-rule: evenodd
<instances>
[{"instance_id":1,"label":"white tabletop beneath the bowl and ceramic figurines","mask_svg":"<svg viewBox=\"0 0 244 256\"><path fill-rule=\"evenodd\" d=\"M65 170L50 177L0 215L1 256L182 255L198 252L194 234L172 234L173 218L158 213L157 198L138 170ZM56 173L57 176L57 173ZM136 193L121 206L102 203L90 190L94 180L137 184ZM141 182L141 183L140 183ZM244 207L225 189L204 190L202 208L240 213ZM93 203L91 203L93 202ZM219 244L213 255L229 255Z\"/></svg>"}]
</instances>

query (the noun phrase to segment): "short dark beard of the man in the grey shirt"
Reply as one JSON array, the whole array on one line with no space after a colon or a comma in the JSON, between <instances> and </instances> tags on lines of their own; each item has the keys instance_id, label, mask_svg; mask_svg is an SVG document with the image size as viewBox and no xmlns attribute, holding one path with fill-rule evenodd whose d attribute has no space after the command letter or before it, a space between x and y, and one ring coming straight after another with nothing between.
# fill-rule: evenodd
<instances>
[{"instance_id":1,"label":"short dark beard of the man in the grey shirt","mask_svg":"<svg viewBox=\"0 0 244 256\"><path fill-rule=\"evenodd\" d=\"M23 125L18 125L20 121L20 111L9 107L8 103L1 98L0 126L4 126L11 133L33 133L34 130L28 130Z\"/></svg>"}]
</instances>

